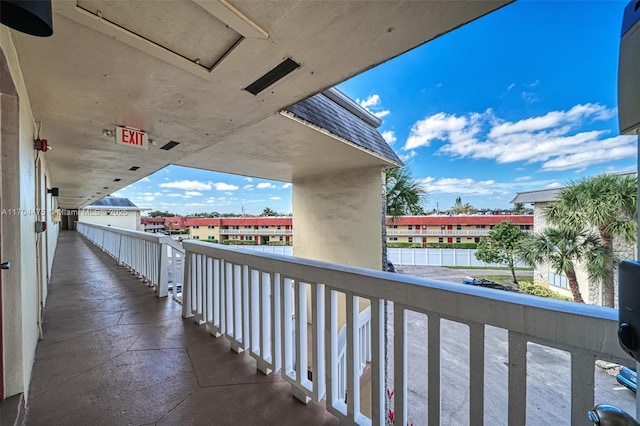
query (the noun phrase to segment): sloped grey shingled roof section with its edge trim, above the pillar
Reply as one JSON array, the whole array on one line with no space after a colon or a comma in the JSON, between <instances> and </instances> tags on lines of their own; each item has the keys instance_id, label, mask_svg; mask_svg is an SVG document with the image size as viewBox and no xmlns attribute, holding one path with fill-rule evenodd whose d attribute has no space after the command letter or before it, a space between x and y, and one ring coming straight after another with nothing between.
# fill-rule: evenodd
<instances>
[{"instance_id":1,"label":"sloped grey shingled roof section with its edge trim, above the pillar","mask_svg":"<svg viewBox=\"0 0 640 426\"><path fill-rule=\"evenodd\" d=\"M377 130L382 121L335 88L298 102L286 111L402 165L402 160Z\"/></svg>"}]
</instances>

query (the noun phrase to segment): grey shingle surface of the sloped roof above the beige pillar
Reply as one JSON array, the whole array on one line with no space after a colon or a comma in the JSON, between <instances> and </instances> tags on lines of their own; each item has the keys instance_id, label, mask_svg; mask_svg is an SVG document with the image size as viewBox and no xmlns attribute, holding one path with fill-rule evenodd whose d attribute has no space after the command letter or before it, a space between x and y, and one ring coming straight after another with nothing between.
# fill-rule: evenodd
<instances>
[{"instance_id":1,"label":"grey shingle surface of the sloped roof above the beige pillar","mask_svg":"<svg viewBox=\"0 0 640 426\"><path fill-rule=\"evenodd\" d=\"M286 111L394 163L402 164L375 127L319 93Z\"/></svg>"}]
</instances>

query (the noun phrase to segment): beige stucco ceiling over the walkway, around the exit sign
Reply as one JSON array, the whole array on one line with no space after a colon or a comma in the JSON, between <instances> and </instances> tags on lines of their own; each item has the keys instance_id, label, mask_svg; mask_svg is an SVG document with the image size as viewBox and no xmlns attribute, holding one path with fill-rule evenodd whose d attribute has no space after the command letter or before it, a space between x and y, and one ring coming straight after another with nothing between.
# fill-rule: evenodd
<instances>
[{"instance_id":1,"label":"beige stucco ceiling over the walkway, around the exit sign","mask_svg":"<svg viewBox=\"0 0 640 426\"><path fill-rule=\"evenodd\" d=\"M168 164L289 182L389 165L281 111L508 2L63 0L52 37L12 37L50 184L73 208ZM286 58L300 67L244 90ZM103 129L117 125L154 144L116 145Z\"/></svg>"}]
</instances>

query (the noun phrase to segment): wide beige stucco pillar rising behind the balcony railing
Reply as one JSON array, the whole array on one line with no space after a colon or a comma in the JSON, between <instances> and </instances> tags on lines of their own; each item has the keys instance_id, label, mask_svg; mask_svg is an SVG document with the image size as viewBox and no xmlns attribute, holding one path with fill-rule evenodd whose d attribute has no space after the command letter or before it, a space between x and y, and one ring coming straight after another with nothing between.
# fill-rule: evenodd
<instances>
[{"instance_id":1,"label":"wide beige stucco pillar rising behind the balcony railing","mask_svg":"<svg viewBox=\"0 0 640 426\"><path fill-rule=\"evenodd\" d=\"M293 182L296 256L382 268L380 168Z\"/></svg>"}]
</instances>

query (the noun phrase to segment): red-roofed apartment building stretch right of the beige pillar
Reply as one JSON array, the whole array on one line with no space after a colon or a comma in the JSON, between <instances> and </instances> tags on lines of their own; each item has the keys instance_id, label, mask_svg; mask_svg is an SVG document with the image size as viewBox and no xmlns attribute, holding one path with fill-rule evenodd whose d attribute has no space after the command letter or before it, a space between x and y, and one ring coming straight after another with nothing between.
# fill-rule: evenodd
<instances>
[{"instance_id":1,"label":"red-roofed apartment building stretch right of the beige pillar","mask_svg":"<svg viewBox=\"0 0 640 426\"><path fill-rule=\"evenodd\" d=\"M430 215L387 218L387 243L412 244L424 247L428 243L478 243L481 237L500 222L508 221L523 231L533 230L533 215Z\"/></svg>"}]
</instances>

